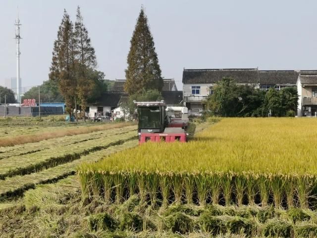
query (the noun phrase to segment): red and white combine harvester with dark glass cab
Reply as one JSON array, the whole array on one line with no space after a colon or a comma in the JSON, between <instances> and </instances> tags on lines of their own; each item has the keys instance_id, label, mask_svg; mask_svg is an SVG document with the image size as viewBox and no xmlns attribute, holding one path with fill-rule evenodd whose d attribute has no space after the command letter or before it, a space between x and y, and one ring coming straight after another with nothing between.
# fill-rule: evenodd
<instances>
[{"instance_id":1,"label":"red and white combine harvester with dark glass cab","mask_svg":"<svg viewBox=\"0 0 317 238\"><path fill-rule=\"evenodd\" d=\"M165 102L136 102L139 123L139 144L146 141L186 142L188 109L166 107Z\"/></svg>"}]
</instances>

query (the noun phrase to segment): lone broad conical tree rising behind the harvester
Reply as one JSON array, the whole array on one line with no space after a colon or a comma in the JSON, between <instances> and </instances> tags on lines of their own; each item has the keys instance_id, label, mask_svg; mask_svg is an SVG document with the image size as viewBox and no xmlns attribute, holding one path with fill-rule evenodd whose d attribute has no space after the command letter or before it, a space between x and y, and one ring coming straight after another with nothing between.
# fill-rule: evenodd
<instances>
[{"instance_id":1,"label":"lone broad conical tree rising behind the harvester","mask_svg":"<svg viewBox=\"0 0 317 238\"><path fill-rule=\"evenodd\" d=\"M162 90L163 79L155 52L153 36L148 25L148 18L141 8L137 24L131 39L128 54L128 68L125 70L124 90L129 94L140 94L149 89Z\"/></svg>"}]
</instances>

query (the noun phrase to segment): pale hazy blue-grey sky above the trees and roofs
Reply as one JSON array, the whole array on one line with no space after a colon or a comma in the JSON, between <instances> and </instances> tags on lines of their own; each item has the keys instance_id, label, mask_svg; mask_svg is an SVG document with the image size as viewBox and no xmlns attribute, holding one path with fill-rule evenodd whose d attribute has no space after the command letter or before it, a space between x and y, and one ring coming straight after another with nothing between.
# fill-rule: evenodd
<instances>
[{"instance_id":1,"label":"pale hazy blue-grey sky above the trees and roofs","mask_svg":"<svg viewBox=\"0 0 317 238\"><path fill-rule=\"evenodd\" d=\"M0 84L16 75L14 20L19 6L22 86L48 79L63 9L80 5L107 79L124 78L141 4L162 76L181 90L183 68L317 69L313 0L0 0Z\"/></svg>"}]
</instances>

